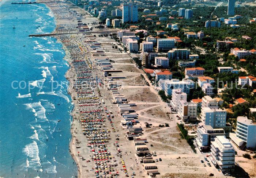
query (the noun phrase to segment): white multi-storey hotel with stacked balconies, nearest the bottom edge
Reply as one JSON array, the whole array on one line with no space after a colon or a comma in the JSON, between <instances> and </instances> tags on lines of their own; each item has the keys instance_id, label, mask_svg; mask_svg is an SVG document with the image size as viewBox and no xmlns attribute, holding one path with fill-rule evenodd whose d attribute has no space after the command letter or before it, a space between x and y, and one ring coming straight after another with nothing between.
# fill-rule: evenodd
<instances>
[{"instance_id":1,"label":"white multi-storey hotel with stacked balconies, nearest the bottom edge","mask_svg":"<svg viewBox=\"0 0 256 178\"><path fill-rule=\"evenodd\" d=\"M235 150L225 136L216 136L211 142L212 163L223 173L234 171Z\"/></svg>"}]
</instances>

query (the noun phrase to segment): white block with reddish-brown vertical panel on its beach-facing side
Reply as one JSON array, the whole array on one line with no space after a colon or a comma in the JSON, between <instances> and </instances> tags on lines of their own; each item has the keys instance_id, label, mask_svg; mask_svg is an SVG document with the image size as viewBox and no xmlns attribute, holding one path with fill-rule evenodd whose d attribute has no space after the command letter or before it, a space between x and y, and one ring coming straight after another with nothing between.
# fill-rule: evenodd
<instances>
[{"instance_id":1,"label":"white block with reddish-brown vertical panel on its beach-facing side","mask_svg":"<svg viewBox=\"0 0 256 178\"><path fill-rule=\"evenodd\" d=\"M177 112L183 121L196 121L197 105L193 102L181 100L178 102Z\"/></svg>"}]
</instances>

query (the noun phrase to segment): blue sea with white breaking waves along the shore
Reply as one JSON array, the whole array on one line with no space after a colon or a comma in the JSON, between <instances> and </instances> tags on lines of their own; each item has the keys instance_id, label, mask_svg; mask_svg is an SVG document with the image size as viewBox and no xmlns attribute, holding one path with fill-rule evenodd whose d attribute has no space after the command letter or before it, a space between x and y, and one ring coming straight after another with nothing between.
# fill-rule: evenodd
<instances>
[{"instance_id":1,"label":"blue sea with white breaking waves along the shore","mask_svg":"<svg viewBox=\"0 0 256 178\"><path fill-rule=\"evenodd\" d=\"M11 2L0 2L0 177L75 177L69 65L55 38L29 37L52 32L54 16Z\"/></svg>"}]
</instances>

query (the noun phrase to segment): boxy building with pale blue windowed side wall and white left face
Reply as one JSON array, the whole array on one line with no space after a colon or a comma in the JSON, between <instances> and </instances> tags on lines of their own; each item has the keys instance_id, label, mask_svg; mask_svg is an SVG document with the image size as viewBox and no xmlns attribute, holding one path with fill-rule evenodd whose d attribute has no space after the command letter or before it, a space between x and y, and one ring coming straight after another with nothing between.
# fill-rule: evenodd
<instances>
[{"instance_id":1,"label":"boxy building with pale blue windowed side wall and white left face","mask_svg":"<svg viewBox=\"0 0 256 178\"><path fill-rule=\"evenodd\" d=\"M202 107L201 118L204 125L211 125L212 128L224 128L226 126L227 112L222 109Z\"/></svg>"}]
</instances>

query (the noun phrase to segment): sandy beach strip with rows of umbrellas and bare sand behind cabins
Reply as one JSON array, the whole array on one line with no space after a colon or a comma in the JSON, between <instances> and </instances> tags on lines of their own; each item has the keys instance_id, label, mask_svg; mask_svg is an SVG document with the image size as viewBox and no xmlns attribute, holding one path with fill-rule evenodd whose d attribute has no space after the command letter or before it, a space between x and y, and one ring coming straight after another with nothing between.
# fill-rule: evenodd
<instances>
[{"instance_id":1,"label":"sandy beach strip with rows of umbrellas and bare sand behind cabins","mask_svg":"<svg viewBox=\"0 0 256 178\"><path fill-rule=\"evenodd\" d=\"M66 54L64 59L70 66L65 75L69 80L68 91L74 103L69 151L74 164L78 166L78 177L148 177L143 164L139 163L133 141L126 137L127 129L120 124L124 118L117 104L113 104L112 92L106 87L107 77L95 64L93 48L88 41L100 43L104 56L112 61L113 69L122 70L111 75L125 76L113 81L122 84L118 92L123 94L127 101L136 103L132 109L138 114L137 126L143 130L141 138L147 139L150 152L157 152L157 156L153 158L159 171L156 176L209 177L208 175L213 173L215 177L224 177L214 166L204 167L200 160L206 155L195 154L186 140L181 138L177 128L177 123L180 123L177 114L170 112L144 71L136 67L131 55L120 51L118 48L122 47L109 36L116 33L117 29L106 31L95 28L92 23L98 22L98 19L71 3L46 5L55 16L54 32L72 33L54 37L63 44ZM75 12L79 14L80 23L87 24L87 34L74 34L78 32L78 16ZM90 30L91 27L93 30ZM99 37L102 34L108 36ZM109 112L113 115L111 119L108 119ZM150 128L146 127L147 122L152 124ZM169 126L159 127L166 124ZM118 148L121 152L117 151ZM158 161L160 158L161 162Z\"/></svg>"}]
</instances>

